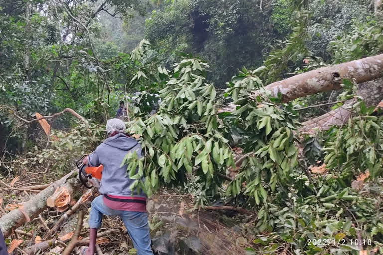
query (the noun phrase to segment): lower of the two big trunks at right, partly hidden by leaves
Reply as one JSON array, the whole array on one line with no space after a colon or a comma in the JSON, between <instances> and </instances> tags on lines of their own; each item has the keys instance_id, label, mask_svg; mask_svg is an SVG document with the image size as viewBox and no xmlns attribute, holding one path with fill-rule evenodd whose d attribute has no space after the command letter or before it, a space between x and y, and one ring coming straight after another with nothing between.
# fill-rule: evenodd
<instances>
[{"instance_id":1,"label":"lower of the two big trunks at right, partly hidden by leaves","mask_svg":"<svg viewBox=\"0 0 383 255\"><path fill-rule=\"evenodd\" d=\"M383 99L383 78L359 84L357 95L364 98L367 106L378 105ZM352 114L349 108L355 101L350 99L342 107L302 123L300 131L302 134L315 134L318 131L326 131L334 125L341 126L347 123Z\"/></svg>"}]
</instances>

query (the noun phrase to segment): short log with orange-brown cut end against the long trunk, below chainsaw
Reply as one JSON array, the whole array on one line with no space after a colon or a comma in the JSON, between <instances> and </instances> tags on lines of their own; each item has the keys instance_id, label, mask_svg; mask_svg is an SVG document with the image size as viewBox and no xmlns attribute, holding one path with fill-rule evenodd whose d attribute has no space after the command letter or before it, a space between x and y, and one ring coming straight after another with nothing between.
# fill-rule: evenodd
<instances>
[{"instance_id":1,"label":"short log with orange-brown cut end against the long trunk, below chainsaw","mask_svg":"<svg viewBox=\"0 0 383 255\"><path fill-rule=\"evenodd\" d=\"M56 207L58 212L63 212L68 209L69 203L72 200L73 188L69 183L56 189L56 191L48 197L46 204L49 207Z\"/></svg>"}]
</instances>

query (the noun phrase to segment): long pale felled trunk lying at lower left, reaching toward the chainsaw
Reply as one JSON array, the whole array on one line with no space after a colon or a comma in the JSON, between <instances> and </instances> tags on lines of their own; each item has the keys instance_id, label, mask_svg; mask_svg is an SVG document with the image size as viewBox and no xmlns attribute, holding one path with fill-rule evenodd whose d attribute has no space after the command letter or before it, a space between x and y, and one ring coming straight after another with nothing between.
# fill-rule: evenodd
<instances>
[{"instance_id":1,"label":"long pale felled trunk lying at lower left, reaching toward the chainsaw","mask_svg":"<svg viewBox=\"0 0 383 255\"><path fill-rule=\"evenodd\" d=\"M20 209L15 209L1 217L0 228L4 236L8 236L13 229L23 225L27 220L26 216L33 219L44 211L47 208L46 199L51 196L58 187L65 184L67 179L69 179L75 172L76 170L71 171L25 202L22 210L26 215L24 215Z\"/></svg>"}]
</instances>

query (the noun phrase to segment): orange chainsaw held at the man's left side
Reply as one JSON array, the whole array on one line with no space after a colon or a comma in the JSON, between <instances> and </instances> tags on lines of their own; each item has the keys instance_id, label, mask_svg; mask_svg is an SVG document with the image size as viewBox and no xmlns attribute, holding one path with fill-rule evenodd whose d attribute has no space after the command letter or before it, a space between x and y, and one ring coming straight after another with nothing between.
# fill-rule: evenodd
<instances>
[{"instance_id":1,"label":"orange chainsaw held at the man's left side","mask_svg":"<svg viewBox=\"0 0 383 255\"><path fill-rule=\"evenodd\" d=\"M88 189L91 189L92 187L99 188L103 166L99 165L96 167L90 167L90 166L84 165L82 160L85 157L86 155L82 156L76 162L76 166L78 168L78 178L80 179L80 182ZM91 185L89 185L88 182Z\"/></svg>"}]
</instances>

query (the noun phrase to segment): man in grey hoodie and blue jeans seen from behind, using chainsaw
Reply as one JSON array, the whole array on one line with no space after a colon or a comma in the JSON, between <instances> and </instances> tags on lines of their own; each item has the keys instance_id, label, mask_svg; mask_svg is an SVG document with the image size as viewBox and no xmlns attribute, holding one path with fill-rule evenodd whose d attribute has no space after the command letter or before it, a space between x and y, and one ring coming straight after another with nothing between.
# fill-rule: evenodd
<instances>
[{"instance_id":1,"label":"man in grey hoodie and blue jeans seen from behind, using chainsaw","mask_svg":"<svg viewBox=\"0 0 383 255\"><path fill-rule=\"evenodd\" d=\"M111 119L106 123L108 138L96 150L85 157L83 163L90 167L103 165L99 192L100 196L92 202L89 214L89 247L83 255L93 255L96 251L97 230L101 227L103 215L120 216L133 241L137 255L153 255L150 248L148 214L145 193L129 188L134 180L127 177L127 165L121 162L127 153L137 153L140 158L141 145L125 134L125 123Z\"/></svg>"}]
</instances>

